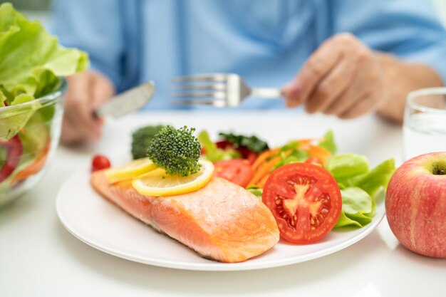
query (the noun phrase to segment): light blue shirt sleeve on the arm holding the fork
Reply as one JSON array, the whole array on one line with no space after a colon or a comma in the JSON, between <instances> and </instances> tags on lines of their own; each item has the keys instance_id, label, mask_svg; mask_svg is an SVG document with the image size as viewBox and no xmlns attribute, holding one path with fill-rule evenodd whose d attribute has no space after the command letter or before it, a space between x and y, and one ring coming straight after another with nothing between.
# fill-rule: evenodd
<instances>
[{"instance_id":1,"label":"light blue shirt sleeve on the arm holding the fork","mask_svg":"<svg viewBox=\"0 0 446 297\"><path fill-rule=\"evenodd\" d=\"M378 51L433 68L446 83L446 31L426 0L331 1L333 33L351 32Z\"/></svg>"}]
</instances>

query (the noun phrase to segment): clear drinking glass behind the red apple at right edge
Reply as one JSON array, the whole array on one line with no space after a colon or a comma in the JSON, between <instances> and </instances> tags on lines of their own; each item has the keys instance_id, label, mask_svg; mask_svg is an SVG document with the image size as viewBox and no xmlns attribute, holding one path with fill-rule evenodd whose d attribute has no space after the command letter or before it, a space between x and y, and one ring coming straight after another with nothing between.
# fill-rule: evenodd
<instances>
[{"instance_id":1,"label":"clear drinking glass behind the red apple at right edge","mask_svg":"<svg viewBox=\"0 0 446 297\"><path fill-rule=\"evenodd\" d=\"M446 88L409 93L403 125L403 161L428 152L446 152Z\"/></svg>"}]
</instances>

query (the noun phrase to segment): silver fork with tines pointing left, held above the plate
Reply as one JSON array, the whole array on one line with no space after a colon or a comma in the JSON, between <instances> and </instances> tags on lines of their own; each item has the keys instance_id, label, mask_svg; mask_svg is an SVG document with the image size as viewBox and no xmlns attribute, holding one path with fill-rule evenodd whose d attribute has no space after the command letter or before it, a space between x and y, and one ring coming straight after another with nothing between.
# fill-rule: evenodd
<instances>
[{"instance_id":1,"label":"silver fork with tines pointing left, held above the plate","mask_svg":"<svg viewBox=\"0 0 446 297\"><path fill-rule=\"evenodd\" d=\"M238 74L209 73L174 78L173 100L179 105L210 105L217 108L236 107L249 96L277 99L282 92L276 88L250 88ZM207 100L206 100L207 99Z\"/></svg>"}]
</instances>

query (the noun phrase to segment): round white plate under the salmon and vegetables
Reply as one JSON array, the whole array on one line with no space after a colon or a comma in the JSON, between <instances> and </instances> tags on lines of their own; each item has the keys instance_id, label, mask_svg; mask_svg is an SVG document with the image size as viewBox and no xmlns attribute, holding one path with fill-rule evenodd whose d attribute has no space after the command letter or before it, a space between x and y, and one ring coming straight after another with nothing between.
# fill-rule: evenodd
<instances>
[{"instance_id":1,"label":"round white plate under the salmon and vegetables","mask_svg":"<svg viewBox=\"0 0 446 297\"><path fill-rule=\"evenodd\" d=\"M56 209L62 224L81 241L105 253L154 266L199 271L242 271L295 264L332 254L370 234L384 216L378 203L373 222L361 229L331 231L316 244L279 241L266 253L243 263L224 264L203 259L192 249L157 233L100 197L83 170L67 179L58 192Z\"/></svg>"}]
</instances>

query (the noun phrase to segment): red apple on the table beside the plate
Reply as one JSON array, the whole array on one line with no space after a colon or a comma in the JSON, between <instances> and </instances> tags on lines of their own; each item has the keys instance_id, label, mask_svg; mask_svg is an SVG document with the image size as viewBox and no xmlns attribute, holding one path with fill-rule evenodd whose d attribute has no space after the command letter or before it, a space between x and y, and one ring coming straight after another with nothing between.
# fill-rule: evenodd
<instances>
[{"instance_id":1,"label":"red apple on the table beside the plate","mask_svg":"<svg viewBox=\"0 0 446 297\"><path fill-rule=\"evenodd\" d=\"M446 152L408 160L388 184L385 212L406 248L446 258Z\"/></svg>"}]
</instances>

